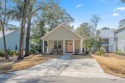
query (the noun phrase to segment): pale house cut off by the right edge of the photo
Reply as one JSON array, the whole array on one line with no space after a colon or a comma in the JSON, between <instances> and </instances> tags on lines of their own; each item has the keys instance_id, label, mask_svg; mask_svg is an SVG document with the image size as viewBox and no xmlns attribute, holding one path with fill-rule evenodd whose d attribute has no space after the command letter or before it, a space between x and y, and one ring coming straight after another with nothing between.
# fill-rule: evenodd
<instances>
[{"instance_id":1,"label":"pale house cut off by the right edge of the photo","mask_svg":"<svg viewBox=\"0 0 125 83\"><path fill-rule=\"evenodd\" d=\"M125 52L125 27L121 27L114 31L115 34L115 50L118 49Z\"/></svg>"}]
</instances>

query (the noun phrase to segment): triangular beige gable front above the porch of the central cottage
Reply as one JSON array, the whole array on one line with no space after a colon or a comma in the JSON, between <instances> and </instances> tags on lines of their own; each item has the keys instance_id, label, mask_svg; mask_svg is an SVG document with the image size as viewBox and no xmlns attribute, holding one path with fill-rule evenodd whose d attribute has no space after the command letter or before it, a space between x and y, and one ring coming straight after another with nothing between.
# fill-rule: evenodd
<instances>
[{"instance_id":1,"label":"triangular beige gable front above the porch of the central cottage","mask_svg":"<svg viewBox=\"0 0 125 83\"><path fill-rule=\"evenodd\" d=\"M75 32L71 31L64 25L59 25L52 31L50 31L48 34L43 36L41 39L43 40L80 40L82 39L81 36L76 34Z\"/></svg>"}]
</instances>

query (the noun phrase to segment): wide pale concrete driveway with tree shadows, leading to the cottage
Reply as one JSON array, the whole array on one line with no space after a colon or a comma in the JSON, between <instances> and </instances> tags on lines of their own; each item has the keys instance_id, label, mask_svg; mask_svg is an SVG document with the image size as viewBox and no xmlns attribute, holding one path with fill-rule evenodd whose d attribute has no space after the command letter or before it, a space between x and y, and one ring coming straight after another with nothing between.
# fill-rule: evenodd
<instances>
[{"instance_id":1,"label":"wide pale concrete driveway with tree shadows, leading to the cottage","mask_svg":"<svg viewBox=\"0 0 125 83\"><path fill-rule=\"evenodd\" d=\"M66 54L32 68L0 74L0 83L125 83L103 72L95 59L71 59Z\"/></svg>"}]
</instances>

